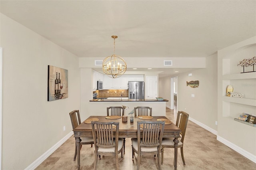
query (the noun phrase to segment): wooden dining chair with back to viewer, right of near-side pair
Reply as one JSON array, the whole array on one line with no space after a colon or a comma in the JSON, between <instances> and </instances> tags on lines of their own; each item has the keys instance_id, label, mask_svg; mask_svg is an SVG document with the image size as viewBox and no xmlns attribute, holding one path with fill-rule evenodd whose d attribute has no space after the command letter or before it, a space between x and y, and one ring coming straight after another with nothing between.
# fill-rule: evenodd
<instances>
[{"instance_id":1,"label":"wooden dining chair with back to viewer, right of near-side pair","mask_svg":"<svg viewBox=\"0 0 256 170\"><path fill-rule=\"evenodd\" d=\"M140 131L141 129L142 132ZM138 138L132 138L132 160L134 160L134 152L138 154L137 170L140 169L141 155L157 155L158 170L161 170L160 152L164 133L164 121L138 121L137 133Z\"/></svg>"}]
</instances>

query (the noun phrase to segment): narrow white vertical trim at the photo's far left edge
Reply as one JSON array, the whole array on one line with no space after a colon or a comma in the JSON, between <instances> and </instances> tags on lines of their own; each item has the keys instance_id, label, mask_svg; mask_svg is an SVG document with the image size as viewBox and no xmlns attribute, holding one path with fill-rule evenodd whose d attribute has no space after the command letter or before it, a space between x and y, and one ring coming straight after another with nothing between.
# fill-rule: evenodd
<instances>
[{"instance_id":1,"label":"narrow white vertical trim at the photo's far left edge","mask_svg":"<svg viewBox=\"0 0 256 170\"><path fill-rule=\"evenodd\" d=\"M3 48L0 47L0 170L2 169L2 85L3 85Z\"/></svg>"}]
</instances>

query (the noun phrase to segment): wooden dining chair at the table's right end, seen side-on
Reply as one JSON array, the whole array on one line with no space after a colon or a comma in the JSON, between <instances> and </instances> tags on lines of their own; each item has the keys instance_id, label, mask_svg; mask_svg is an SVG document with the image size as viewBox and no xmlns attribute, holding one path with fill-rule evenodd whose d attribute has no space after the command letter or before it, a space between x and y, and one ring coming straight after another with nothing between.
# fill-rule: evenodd
<instances>
[{"instance_id":1,"label":"wooden dining chair at the table's right end, seen side-on","mask_svg":"<svg viewBox=\"0 0 256 170\"><path fill-rule=\"evenodd\" d=\"M184 137L185 137L185 133L186 133L186 128L188 125L188 113L183 112L183 111L178 111L177 114L177 120L176 120L176 126L178 128L180 128L181 132L180 132L180 142L178 142L178 148L180 148L180 153L181 153L181 157L182 157L182 161L183 164L185 164L185 160L184 160L184 154L183 154L183 144L184 144ZM162 140L162 164L164 163L164 148L174 148L174 138L163 138Z\"/></svg>"}]
</instances>

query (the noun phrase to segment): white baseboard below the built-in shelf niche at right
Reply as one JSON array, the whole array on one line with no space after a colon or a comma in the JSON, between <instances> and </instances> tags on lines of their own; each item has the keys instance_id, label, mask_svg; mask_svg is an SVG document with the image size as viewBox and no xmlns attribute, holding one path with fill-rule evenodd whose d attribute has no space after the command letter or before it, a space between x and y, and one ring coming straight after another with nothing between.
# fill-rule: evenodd
<instances>
[{"instance_id":1,"label":"white baseboard below the built-in shelf niche at right","mask_svg":"<svg viewBox=\"0 0 256 170\"><path fill-rule=\"evenodd\" d=\"M217 136L217 140L222 142L226 146L230 147L231 149L235 150L236 152L240 153L242 156L248 158L252 162L256 163L256 156L251 154L250 152L240 148L239 146L229 142L228 140L226 140L226 139L224 139L224 138L222 138L220 136Z\"/></svg>"}]
</instances>

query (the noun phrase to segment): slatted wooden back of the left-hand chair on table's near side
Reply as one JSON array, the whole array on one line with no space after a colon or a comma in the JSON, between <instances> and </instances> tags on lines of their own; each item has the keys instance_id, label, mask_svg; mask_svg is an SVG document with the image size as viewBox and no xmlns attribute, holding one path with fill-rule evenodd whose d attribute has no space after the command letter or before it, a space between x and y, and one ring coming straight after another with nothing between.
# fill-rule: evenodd
<instances>
[{"instance_id":1,"label":"slatted wooden back of the left-hand chair on table's near side","mask_svg":"<svg viewBox=\"0 0 256 170\"><path fill-rule=\"evenodd\" d=\"M96 146L108 148L117 145L118 140L115 139L118 139L119 122L92 122L91 124Z\"/></svg>"}]
</instances>

